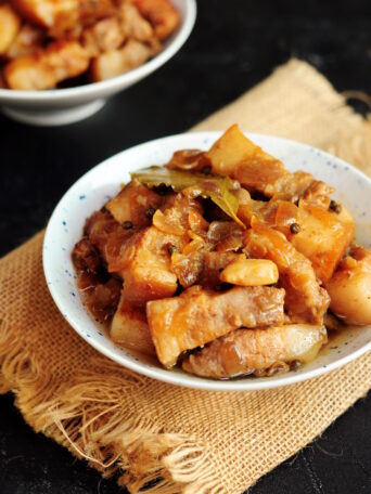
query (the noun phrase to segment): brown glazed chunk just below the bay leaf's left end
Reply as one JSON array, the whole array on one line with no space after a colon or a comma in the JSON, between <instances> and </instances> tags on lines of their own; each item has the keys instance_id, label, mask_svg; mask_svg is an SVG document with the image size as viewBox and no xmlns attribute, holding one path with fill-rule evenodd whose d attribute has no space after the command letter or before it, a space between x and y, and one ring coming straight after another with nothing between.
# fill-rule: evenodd
<instances>
[{"instance_id":1,"label":"brown glazed chunk just below the bay leaf's left end","mask_svg":"<svg viewBox=\"0 0 371 494\"><path fill-rule=\"evenodd\" d=\"M129 221L133 227L140 229L151 224L151 211L162 205L163 198L151 188L132 180L106 205L115 220L123 224Z\"/></svg>"}]
</instances>

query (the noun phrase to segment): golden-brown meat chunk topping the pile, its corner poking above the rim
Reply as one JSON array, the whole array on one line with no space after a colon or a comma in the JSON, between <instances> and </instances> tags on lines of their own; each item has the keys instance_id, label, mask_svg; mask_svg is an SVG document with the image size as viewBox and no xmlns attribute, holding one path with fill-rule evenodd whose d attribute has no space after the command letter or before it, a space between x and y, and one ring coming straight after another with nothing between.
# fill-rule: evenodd
<instances>
[{"instance_id":1,"label":"golden-brown meat chunk topping the pile, its corner poking above the rim","mask_svg":"<svg viewBox=\"0 0 371 494\"><path fill-rule=\"evenodd\" d=\"M311 191L311 197L316 192L321 195L333 192L332 187L309 173L290 173L279 159L254 144L235 125L221 135L205 156L212 162L214 173L231 177L247 190L260 192L267 197L295 202L308 190Z\"/></svg>"}]
</instances>

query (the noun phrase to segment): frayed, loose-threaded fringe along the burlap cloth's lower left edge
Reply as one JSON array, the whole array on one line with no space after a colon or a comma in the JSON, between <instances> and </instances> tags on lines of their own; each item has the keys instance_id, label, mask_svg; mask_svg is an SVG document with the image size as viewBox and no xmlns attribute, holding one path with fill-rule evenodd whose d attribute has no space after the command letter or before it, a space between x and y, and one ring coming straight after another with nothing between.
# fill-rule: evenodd
<instances>
[{"instance_id":1,"label":"frayed, loose-threaded fringe along the burlap cloth's lower left edge","mask_svg":"<svg viewBox=\"0 0 371 494\"><path fill-rule=\"evenodd\" d=\"M151 482L146 492L153 494L223 492L206 447L188 434L163 432L163 425L136 411L127 413L123 398L145 386L145 378L130 370L123 375L116 364L94 355L89 369L61 386L14 337L11 325L2 322L0 336L0 390L13 390L37 432L104 477L118 473L118 483L130 493Z\"/></svg>"}]
</instances>

